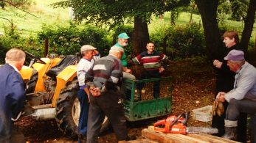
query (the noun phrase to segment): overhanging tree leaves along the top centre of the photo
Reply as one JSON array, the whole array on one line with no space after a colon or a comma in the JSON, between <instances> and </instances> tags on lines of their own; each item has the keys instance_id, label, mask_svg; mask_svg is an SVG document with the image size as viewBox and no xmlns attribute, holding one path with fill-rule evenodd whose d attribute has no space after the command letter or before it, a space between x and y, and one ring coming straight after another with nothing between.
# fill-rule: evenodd
<instances>
[{"instance_id":1,"label":"overhanging tree leaves along the top centre of the photo","mask_svg":"<svg viewBox=\"0 0 256 143\"><path fill-rule=\"evenodd\" d=\"M72 7L77 21L85 20L97 26L110 27L133 21L134 16L149 22L152 15L162 15L175 7L189 4L189 0L71 0L52 4L53 7ZM127 21L126 21L127 22Z\"/></svg>"}]
</instances>

